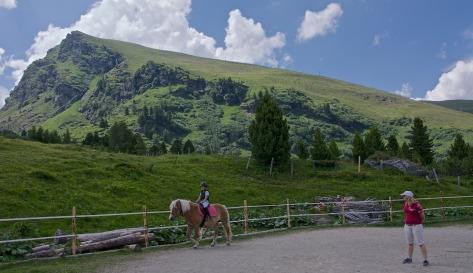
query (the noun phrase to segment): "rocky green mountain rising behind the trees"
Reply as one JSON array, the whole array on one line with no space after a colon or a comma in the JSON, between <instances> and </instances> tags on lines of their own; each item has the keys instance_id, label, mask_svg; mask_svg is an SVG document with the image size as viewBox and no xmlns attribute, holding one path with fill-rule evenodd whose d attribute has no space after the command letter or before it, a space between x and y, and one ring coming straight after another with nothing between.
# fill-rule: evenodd
<instances>
[{"instance_id":1,"label":"rocky green mountain rising behind the trees","mask_svg":"<svg viewBox=\"0 0 473 273\"><path fill-rule=\"evenodd\" d=\"M340 64L343 65L343 64ZM32 63L0 111L0 126L33 125L82 139L101 123L125 121L147 141L190 138L223 153L248 149L257 93L272 92L291 140L310 142L315 128L340 142L378 126L404 140L414 117L431 128L436 149L454 134L473 140L473 114L416 102L373 88L284 69L206 59L72 32ZM102 126L104 127L104 126Z\"/></svg>"}]
</instances>

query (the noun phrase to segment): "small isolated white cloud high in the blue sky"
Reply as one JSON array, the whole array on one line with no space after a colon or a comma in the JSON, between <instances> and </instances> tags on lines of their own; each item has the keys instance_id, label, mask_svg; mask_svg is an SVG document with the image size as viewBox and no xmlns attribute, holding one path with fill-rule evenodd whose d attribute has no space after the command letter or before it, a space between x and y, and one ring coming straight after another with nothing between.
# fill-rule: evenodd
<instances>
[{"instance_id":1,"label":"small isolated white cloud high in the blue sky","mask_svg":"<svg viewBox=\"0 0 473 273\"><path fill-rule=\"evenodd\" d=\"M297 40L302 42L335 32L342 14L342 7L338 3L330 3L321 11L306 10L304 20L297 29Z\"/></svg>"}]
</instances>

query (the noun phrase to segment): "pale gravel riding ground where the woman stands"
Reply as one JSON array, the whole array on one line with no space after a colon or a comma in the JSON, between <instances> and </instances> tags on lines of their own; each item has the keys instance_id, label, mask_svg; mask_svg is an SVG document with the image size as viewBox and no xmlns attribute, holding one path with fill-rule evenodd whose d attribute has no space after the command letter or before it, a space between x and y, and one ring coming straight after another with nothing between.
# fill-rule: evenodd
<instances>
[{"instance_id":1,"label":"pale gravel riding ground where the woman stands","mask_svg":"<svg viewBox=\"0 0 473 273\"><path fill-rule=\"evenodd\" d=\"M473 272L473 226L427 228L431 266L418 248L403 265L400 228L336 228L299 231L197 250L172 249L139 255L101 269L106 273L313 273L313 272Z\"/></svg>"}]
</instances>

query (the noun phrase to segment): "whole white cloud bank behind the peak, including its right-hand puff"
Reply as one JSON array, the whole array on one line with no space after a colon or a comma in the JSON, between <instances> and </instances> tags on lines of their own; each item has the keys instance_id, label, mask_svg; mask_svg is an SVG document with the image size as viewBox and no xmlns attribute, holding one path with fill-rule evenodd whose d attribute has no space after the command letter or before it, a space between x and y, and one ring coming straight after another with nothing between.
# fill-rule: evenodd
<instances>
[{"instance_id":1,"label":"whole white cloud bank behind the peak, including its right-hand puff","mask_svg":"<svg viewBox=\"0 0 473 273\"><path fill-rule=\"evenodd\" d=\"M274 50L285 45L285 36L267 37L260 23L245 18L239 10L229 14L225 47L216 48L215 39L189 26L191 0L103 0L69 27L49 25L40 31L26 51L25 60L11 59L18 82L23 70L43 58L67 33L79 30L100 38L117 39L144 46L232 61L278 65Z\"/></svg>"}]
</instances>

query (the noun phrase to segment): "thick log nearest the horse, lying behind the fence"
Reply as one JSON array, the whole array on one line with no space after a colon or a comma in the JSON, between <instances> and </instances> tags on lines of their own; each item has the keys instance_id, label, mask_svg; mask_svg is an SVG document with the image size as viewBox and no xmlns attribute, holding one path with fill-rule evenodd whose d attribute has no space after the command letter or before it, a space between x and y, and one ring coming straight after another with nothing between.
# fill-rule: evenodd
<instances>
[{"instance_id":1,"label":"thick log nearest the horse, lying behind the fence","mask_svg":"<svg viewBox=\"0 0 473 273\"><path fill-rule=\"evenodd\" d=\"M154 234L150 233L149 240L154 240ZM113 248L119 248L126 245L133 245L133 244L144 244L145 236L140 232L128 234L125 236L120 236L113 239L108 239L99 242L93 242L90 244L84 244L79 246L79 252L91 252L91 251L99 251L99 250L107 250Z\"/></svg>"}]
</instances>

